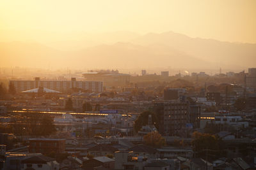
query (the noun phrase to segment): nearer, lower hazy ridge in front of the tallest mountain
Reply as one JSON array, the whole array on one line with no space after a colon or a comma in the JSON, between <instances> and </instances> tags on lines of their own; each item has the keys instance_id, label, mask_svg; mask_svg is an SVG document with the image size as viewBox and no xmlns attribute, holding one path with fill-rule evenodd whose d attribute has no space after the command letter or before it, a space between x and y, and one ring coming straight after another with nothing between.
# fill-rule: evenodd
<instances>
[{"instance_id":1,"label":"nearer, lower hazy ridge in front of the tallest mountain","mask_svg":"<svg viewBox=\"0 0 256 170\"><path fill-rule=\"evenodd\" d=\"M38 43L0 43L1 65L29 67L202 67L210 64L168 46L131 43L63 52ZM193 63L193 64L191 64Z\"/></svg>"}]
</instances>

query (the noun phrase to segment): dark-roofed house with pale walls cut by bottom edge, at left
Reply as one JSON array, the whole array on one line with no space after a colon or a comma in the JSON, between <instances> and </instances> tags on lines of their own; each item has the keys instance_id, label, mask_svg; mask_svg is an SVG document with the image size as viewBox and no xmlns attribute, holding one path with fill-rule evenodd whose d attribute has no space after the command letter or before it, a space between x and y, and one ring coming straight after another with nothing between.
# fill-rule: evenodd
<instances>
[{"instance_id":1,"label":"dark-roofed house with pale walls cut by bottom edge, at left","mask_svg":"<svg viewBox=\"0 0 256 170\"><path fill-rule=\"evenodd\" d=\"M55 159L51 157L45 157L44 155L36 155L33 157L29 157L27 159L23 159L21 161L23 164L21 170L28 169L50 169L50 170L58 170L59 164Z\"/></svg>"}]
</instances>

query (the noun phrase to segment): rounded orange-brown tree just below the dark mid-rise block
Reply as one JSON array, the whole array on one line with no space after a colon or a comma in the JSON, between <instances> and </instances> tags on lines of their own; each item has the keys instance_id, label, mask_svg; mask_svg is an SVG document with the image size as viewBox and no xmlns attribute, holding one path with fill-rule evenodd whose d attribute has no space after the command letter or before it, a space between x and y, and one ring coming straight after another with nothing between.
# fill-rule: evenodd
<instances>
[{"instance_id":1,"label":"rounded orange-brown tree just below the dark mid-rise block","mask_svg":"<svg viewBox=\"0 0 256 170\"><path fill-rule=\"evenodd\" d=\"M166 145L165 139L159 134L159 132L150 132L143 136L145 145L152 147L161 147Z\"/></svg>"}]
</instances>

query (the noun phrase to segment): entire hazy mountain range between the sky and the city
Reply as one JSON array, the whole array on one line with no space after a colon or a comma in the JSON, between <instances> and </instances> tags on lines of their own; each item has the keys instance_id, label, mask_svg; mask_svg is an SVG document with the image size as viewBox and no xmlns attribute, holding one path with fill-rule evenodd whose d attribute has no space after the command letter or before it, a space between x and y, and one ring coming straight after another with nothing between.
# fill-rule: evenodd
<instances>
[{"instance_id":1,"label":"entire hazy mountain range between the sky and the city","mask_svg":"<svg viewBox=\"0 0 256 170\"><path fill-rule=\"evenodd\" d=\"M175 32L149 33L143 36L133 32L113 34L102 34L102 39L106 39L105 44L96 39L98 43L92 43L94 46L91 47L86 47L88 44L83 44L83 39L60 43L54 41L49 46L36 42L1 42L0 66L240 69L255 67L256 63L256 44L190 38ZM108 39L116 43L110 43ZM118 42L118 39L121 41ZM86 39L86 42L90 41L96 42L93 38ZM61 51L52 46L66 48Z\"/></svg>"}]
</instances>

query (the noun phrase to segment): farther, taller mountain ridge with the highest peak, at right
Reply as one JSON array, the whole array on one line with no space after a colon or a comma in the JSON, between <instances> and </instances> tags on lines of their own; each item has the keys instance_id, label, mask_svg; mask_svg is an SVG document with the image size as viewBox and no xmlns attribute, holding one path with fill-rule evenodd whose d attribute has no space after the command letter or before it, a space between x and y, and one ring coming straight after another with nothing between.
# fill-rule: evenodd
<instances>
[{"instance_id":1,"label":"farther, taller mountain ridge with the highest peak, at right","mask_svg":"<svg viewBox=\"0 0 256 170\"><path fill-rule=\"evenodd\" d=\"M214 39L190 38L175 32L149 33L131 40L138 45L172 46L216 66L255 67L256 44L229 43Z\"/></svg>"}]
</instances>

